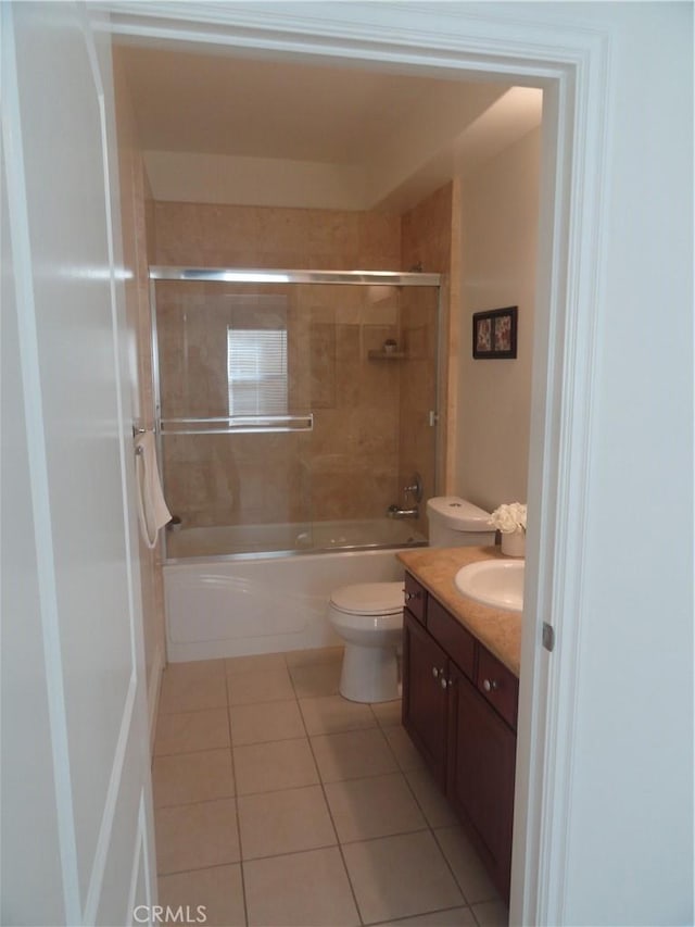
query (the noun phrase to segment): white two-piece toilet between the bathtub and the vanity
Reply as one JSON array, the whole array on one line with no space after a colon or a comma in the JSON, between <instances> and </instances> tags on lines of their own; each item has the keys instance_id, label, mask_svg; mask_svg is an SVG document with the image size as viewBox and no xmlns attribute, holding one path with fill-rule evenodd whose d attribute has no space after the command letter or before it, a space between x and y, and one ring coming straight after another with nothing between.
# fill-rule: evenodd
<instances>
[{"instance_id":1,"label":"white two-piece toilet between the bathtub and the vanity","mask_svg":"<svg viewBox=\"0 0 695 927\"><path fill-rule=\"evenodd\" d=\"M490 513L457 496L427 503L430 547L494 544ZM397 651L403 634L403 580L362 582L334 589L328 619L345 650L340 693L352 702L388 702L400 697Z\"/></svg>"}]
</instances>

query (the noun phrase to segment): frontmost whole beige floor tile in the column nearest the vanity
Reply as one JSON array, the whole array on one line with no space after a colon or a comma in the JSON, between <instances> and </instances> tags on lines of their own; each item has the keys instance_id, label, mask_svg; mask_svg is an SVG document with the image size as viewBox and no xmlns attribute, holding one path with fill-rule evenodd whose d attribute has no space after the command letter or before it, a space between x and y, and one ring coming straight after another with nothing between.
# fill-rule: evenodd
<instances>
[{"instance_id":1,"label":"frontmost whole beige floor tile in the column nearest the vanity","mask_svg":"<svg viewBox=\"0 0 695 927\"><path fill-rule=\"evenodd\" d=\"M348 843L342 850L366 924L465 903L429 830Z\"/></svg>"}]
</instances>

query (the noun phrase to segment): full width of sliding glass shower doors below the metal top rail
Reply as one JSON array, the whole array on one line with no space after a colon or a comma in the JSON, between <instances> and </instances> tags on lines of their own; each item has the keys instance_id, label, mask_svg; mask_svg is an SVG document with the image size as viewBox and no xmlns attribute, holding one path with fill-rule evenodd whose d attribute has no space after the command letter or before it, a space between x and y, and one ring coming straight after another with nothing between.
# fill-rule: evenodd
<instances>
[{"instance_id":1,"label":"full width of sliding glass shower doors below the metal top rail","mask_svg":"<svg viewBox=\"0 0 695 927\"><path fill-rule=\"evenodd\" d=\"M422 543L438 295L157 279L167 555ZM418 504L415 474L418 516L387 518Z\"/></svg>"}]
</instances>

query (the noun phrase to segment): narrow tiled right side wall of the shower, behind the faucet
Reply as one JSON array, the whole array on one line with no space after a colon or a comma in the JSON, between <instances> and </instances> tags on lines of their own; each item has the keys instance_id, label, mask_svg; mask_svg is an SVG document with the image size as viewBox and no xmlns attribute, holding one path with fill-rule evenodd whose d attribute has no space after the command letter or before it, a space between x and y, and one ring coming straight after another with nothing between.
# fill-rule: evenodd
<instances>
[{"instance_id":1,"label":"narrow tiled right side wall of the shower, behind the faucet","mask_svg":"<svg viewBox=\"0 0 695 927\"><path fill-rule=\"evenodd\" d=\"M445 276L442 288L442 325L445 331L451 317L450 300L456 298L457 293L458 267L452 262L452 242L456 231L453 204L457 195L457 187L447 184L403 216L403 267L419 267L424 273ZM434 449L438 441L438 455L442 462L440 491L444 490L446 476L443 462L446 459L445 438L448 434L446 390L439 427L432 428L429 422L429 411L434 409L437 397L437 306L429 290L404 291L401 324L408 360L403 363L401 374L400 480L405 486L413 472L419 471L425 500L434 494ZM451 335L445 343L451 346ZM444 383L448 360L448 356L440 359ZM421 510L420 529L426 531L425 504Z\"/></svg>"}]
</instances>

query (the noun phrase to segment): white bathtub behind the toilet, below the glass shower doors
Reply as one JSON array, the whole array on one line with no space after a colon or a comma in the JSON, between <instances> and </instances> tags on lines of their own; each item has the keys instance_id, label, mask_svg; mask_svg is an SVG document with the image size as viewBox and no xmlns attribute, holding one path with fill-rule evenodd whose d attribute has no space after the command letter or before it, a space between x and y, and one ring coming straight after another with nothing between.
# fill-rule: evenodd
<instances>
[{"instance_id":1,"label":"white bathtub behind the toilet, below the glass shower doors","mask_svg":"<svg viewBox=\"0 0 695 927\"><path fill-rule=\"evenodd\" d=\"M302 548L307 530L311 551ZM268 553L271 538L294 539L294 547ZM250 539L262 555L248 553ZM388 519L189 528L168 541L163 572L173 663L338 644L326 614L331 591L397 580L396 549L427 543L407 523ZM235 546L245 553L235 555Z\"/></svg>"}]
</instances>

